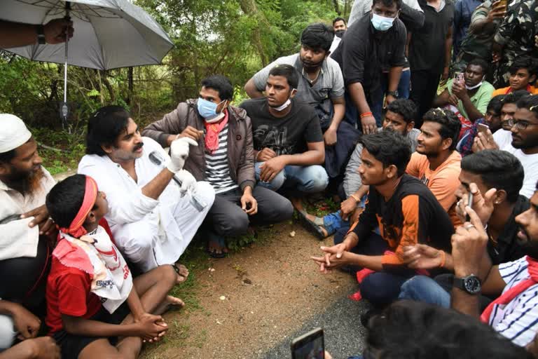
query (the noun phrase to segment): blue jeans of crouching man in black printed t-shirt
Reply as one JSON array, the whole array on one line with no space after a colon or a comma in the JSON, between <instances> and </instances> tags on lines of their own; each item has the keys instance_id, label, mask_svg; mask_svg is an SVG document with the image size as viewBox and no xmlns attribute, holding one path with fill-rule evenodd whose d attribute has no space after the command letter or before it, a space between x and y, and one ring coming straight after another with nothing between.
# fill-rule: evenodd
<instances>
[{"instance_id":1,"label":"blue jeans of crouching man in black printed t-shirt","mask_svg":"<svg viewBox=\"0 0 538 359\"><path fill-rule=\"evenodd\" d=\"M255 175L258 185L278 191L279 189L295 189L303 193L321 192L329 184L329 176L321 165L287 165L271 182L260 180L260 165L256 162Z\"/></svg>"}]
</instances>

